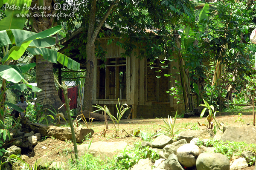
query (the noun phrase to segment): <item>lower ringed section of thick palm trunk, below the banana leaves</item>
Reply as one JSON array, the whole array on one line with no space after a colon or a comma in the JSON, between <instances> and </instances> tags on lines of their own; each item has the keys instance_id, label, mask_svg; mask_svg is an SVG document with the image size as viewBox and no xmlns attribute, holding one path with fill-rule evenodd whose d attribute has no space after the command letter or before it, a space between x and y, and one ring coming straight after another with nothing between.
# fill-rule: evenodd
<instances>
[{"instance_id":1,"label":"lower ringed section of thick palm trunk, below the banana leaves","mask_svg":"<svg viewBox=\"0 0 256 170\"><path fill-rule=\"evenodd\" d=\"M47 111L46 108L57 111L61 107L62 102L55 89L53 80L53 69L52 63L44 60L43 56L36 55L36 82L37 87L42 89L41 92L37 93L36 103L43 105L43 111ZM52 108L53 107L53 108ZM62 107L60 112L64 113L67 118L66 110ZM51 112L47 111L47 114L52 115Z\"/></svg>"}]
</instances>

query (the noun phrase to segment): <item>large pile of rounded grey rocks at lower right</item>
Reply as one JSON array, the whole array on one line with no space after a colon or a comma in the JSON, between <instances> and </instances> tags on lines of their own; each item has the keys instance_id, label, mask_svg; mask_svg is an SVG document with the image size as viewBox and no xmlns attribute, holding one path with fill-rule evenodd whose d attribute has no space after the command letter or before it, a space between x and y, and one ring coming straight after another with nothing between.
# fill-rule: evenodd
<instances>
[{"instance_id":1,"label":"large pile of rounded grey rocks at lower right","mask_svg":"<svg viewBox=\"0 0 256 170\"><path fill-rule=\"evenodd\" d=\"M210 138L223 141L246 141L248 144L255 142L253 133L256 127L224 127L224 133L218 131L216 135L212 130L189 130L180 133L177 141L173 141L166 135L158 136L152 143L142 142L142 146L151 146L160 159L154 165L147 159L141 159L131 170L241 170L248 167L248 162L253 162L255 154L245 151L242 157L233 156L229 160L227 156L214 153L213 147L206 147ZM200 139L199 139L200 138ZM201 142L200 142L201 141Z\"/></svg>"}]
</instances>

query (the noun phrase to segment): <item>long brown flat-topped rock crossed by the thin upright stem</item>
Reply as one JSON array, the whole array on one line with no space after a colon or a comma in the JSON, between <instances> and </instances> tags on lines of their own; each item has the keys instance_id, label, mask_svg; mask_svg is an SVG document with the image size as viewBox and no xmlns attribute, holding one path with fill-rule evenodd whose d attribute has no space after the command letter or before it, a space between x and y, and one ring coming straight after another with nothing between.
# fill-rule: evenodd
<instances>
[{"instance_id":1,"label":"long brown flat-topped rock crossed by the thin upright stem","mask_svg":"<svg viewBox=\"0 0 256 170\"><path fill-rule=\"evenodd\" d=\"M85 129L81 127L74 128L75 135L76 135L76 141L81 142L85 140L85 136L90 135L92 136L94 131L92 129ZM47 130L47 134L49 136L55 136L56 139L59 139L61 141L70 140L72 139L72 134L70 127L55 127L55 126L49 126Z\"/></svg>"}]
</instances>

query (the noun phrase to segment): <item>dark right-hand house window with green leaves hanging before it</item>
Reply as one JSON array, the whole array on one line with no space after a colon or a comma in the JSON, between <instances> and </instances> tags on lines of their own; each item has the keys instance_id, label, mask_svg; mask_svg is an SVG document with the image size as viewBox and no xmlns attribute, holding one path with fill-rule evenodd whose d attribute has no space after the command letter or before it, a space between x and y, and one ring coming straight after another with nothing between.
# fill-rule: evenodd
<instances>
[{"instance_id":1,"label":"dark right-hand house window with green leaves hanging before it","mask_svg":"<svg viewBox=\"0 0 256 170\"><path fill-rule=\"evenodd\" d=\"M169 60L147 60L147 101L170 102L170 68Z\"/></svg>"}]
</instances>

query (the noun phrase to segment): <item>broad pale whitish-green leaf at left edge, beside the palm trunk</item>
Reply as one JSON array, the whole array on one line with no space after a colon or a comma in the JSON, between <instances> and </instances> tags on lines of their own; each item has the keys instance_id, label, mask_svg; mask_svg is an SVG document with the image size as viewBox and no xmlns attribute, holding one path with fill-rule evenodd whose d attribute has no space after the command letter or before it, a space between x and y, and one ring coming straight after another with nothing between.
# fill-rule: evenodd
<instances>
[{"instance_id":1,"label":"broad pale whitish-green leaf at left edge, beside the palm trunk","mask_svg":"<svg viewBox=\"0 0 256 170\"><path fill-rule=\"evenodd\" d=\"M23 75L21 75L20 72L7 65L0 66L0 76L7 81L11 81L13 83L18 83L22 79L24 79Z\"/></svg>"}]
</instances>

